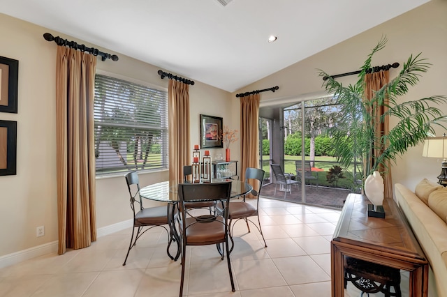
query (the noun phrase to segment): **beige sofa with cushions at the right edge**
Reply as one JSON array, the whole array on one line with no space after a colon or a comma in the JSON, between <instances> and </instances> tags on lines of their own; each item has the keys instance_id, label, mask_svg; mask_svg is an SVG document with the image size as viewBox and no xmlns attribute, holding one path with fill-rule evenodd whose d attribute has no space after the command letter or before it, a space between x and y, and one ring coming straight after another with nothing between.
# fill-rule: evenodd
<instances>
[{"instance_id":1,"label":"beige sofa with cushions at the right edge","mask_svg":"<svg viewBox=\"0 0 447 297\"><path fill-rule=\"evenodd\" d=\"M428 295L447 297L447 188L424 179L412 192L396 183L395 196L430 262Z\"/></svg>"}]
</instances>

